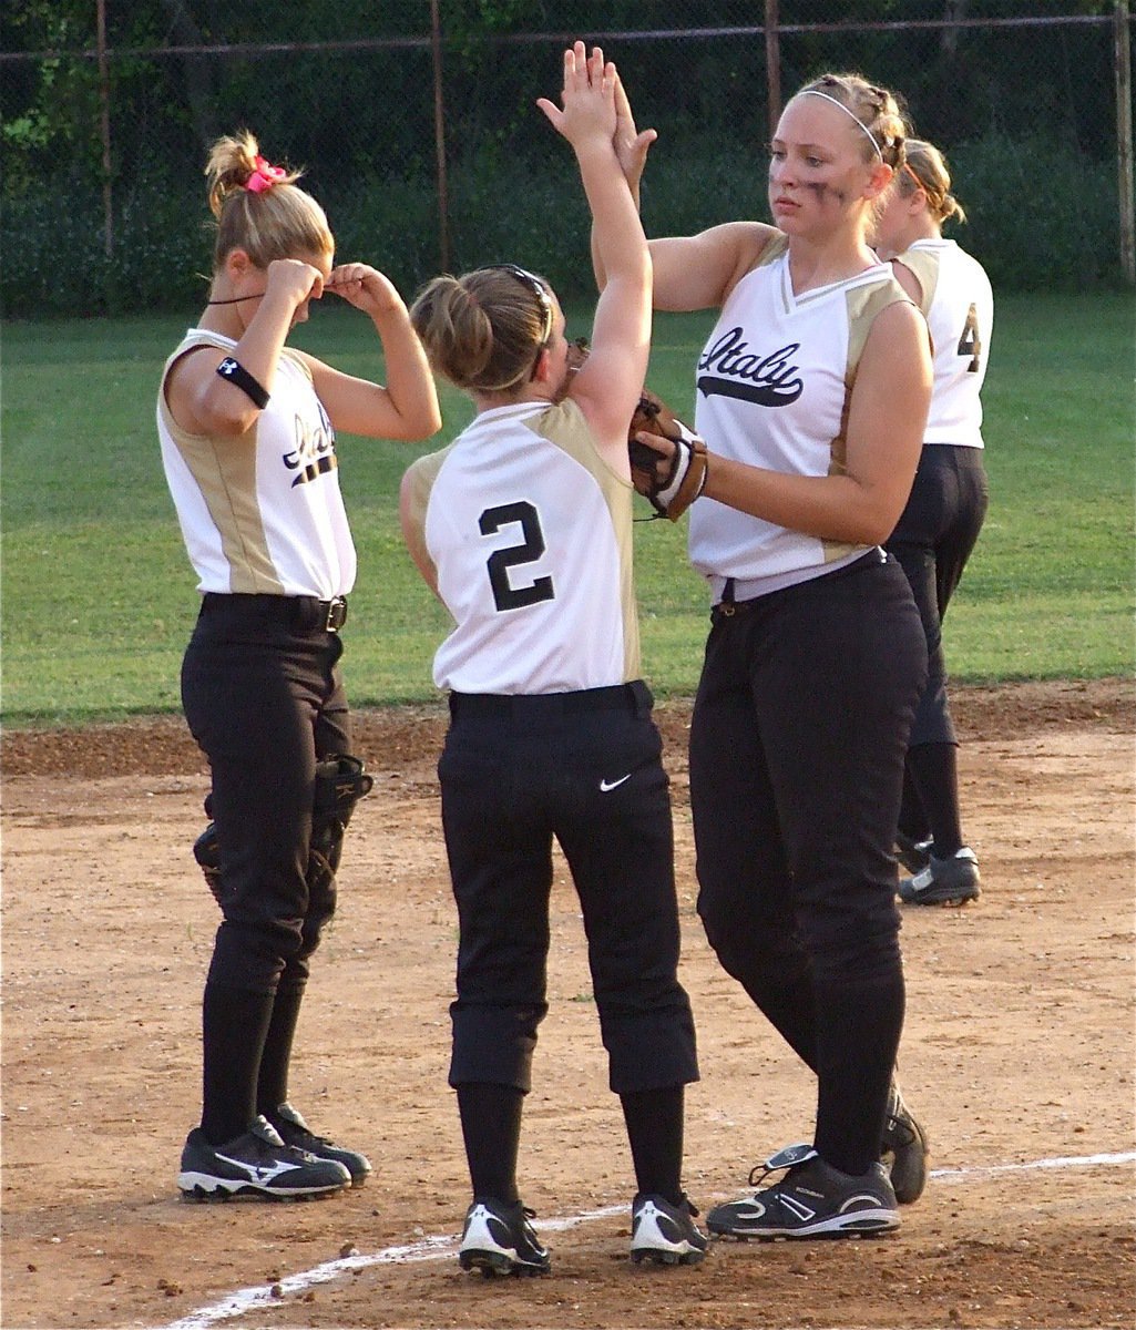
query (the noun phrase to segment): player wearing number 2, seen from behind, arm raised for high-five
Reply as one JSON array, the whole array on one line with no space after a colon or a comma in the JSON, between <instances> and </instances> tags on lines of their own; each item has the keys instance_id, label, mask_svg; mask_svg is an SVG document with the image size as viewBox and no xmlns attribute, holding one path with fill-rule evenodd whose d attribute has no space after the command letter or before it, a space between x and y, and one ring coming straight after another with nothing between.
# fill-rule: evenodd
<instances>
[{"instance_id":1,"label":"player wearing number 2, seen from behind, arm raised for high-five","mask_svg":"<svg viewBox=\"0 0 1136 1330\"><path fill-rule=\"evenodd\" d=\"M547 1012L552 842L580 898L588 958L637 1194L636 1261L700 1261L682 1193L684 1087L697 1080L677 979L673 839L652 696L640 678L627 432L650 336L650 263L612 146L615 70L565 52L563 109L612 273L575 376L548 283L501 265L442 277L411 309L434 368L474 423L407 472L411 555L455 626L434 680L450 692L439 761L458 903L450 1084L472 1204L459 1261L543 1273L517 1189L521 1104Z\"/></svg>"}]
</instances>

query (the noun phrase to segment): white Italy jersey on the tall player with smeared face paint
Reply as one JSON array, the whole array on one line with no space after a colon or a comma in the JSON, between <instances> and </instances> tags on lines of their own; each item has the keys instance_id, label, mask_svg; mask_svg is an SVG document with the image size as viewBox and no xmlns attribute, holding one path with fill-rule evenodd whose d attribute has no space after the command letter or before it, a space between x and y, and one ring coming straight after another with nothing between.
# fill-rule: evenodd
<instances>
[{"instance_id":1,"label":"white Italy jersey on the tall player with smeared face paint","mask_svg":"<svg viewBox=\"0 0 1136 1330\"><path fill-rule=\"evenodd\" d=\"M794 295L785 237L769 241L698 359L694 423L709 451L790 475L839 475L863 344L877 314L898 301L911 303L886 263ZM871 547L806 536L702 497L690 508L689 548L705 577L744 583L742 600Z\"/></svg>"}]
</instances>

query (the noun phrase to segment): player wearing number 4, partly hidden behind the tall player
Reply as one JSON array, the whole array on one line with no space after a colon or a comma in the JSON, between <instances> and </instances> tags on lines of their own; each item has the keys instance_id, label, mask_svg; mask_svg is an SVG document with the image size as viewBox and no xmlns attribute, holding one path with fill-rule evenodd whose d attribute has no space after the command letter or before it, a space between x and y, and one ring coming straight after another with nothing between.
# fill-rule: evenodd
<instances>
[{"instance_id":1,"label":"player wearing number 4, partly hidden behind the tall player","mask_svg":"<svg viewBox=\"0 0 1136 1330\"><path fill-rule=\"evenodd\" d=\"M978 858L963 841L958 738L947 702L943 616L982 529L988 503L982 384L994 295L978 259L943 239L966 221L942 153L909 140L907 160L875 223L875 249L927 318L935 382L911 497L886 548L899 560L927 636L930 670L907 749L897 849L913 876L901 900L963 904L979 895Z\"/></svg>"}]
</instances>

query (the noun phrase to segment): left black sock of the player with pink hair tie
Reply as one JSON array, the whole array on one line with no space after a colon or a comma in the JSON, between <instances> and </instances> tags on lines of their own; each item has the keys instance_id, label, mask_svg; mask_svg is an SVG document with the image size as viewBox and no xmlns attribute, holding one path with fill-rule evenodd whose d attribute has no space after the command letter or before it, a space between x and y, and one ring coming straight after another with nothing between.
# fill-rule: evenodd
<instances>
[{"instance_id":1,"label":"left black sock of the player with pink hair tie","mask_svg":"<svg viewBox=\"0 0 1136 1330\"><path fill-rule=\"evenodd\" d=\"M210 1145L243 1136L257 1116L257 1075L271 1015L271 994L205 986L201 1129Z\"/></svg>"}]
</instances>

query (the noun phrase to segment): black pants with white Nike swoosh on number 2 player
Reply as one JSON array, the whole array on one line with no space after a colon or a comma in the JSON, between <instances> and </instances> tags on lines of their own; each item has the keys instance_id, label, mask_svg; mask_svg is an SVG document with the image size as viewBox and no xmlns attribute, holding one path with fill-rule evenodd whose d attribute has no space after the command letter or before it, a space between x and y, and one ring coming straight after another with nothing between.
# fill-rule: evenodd
<instances>
[{"instance_id":1,"label":"black pants with white Nike swoosh on number 2 player","mask_svg":"<svg viewBox=\"0 0 1136 1330\"><path fill-rule=\"evenodd\" d=\"M547 1015L552 842L580 899L611 1088L698 1079L678 983L673 827L642 682L454 694L438 763L458 903L450 1084L527 1092Z\"/></svg>"}]
</instances>

